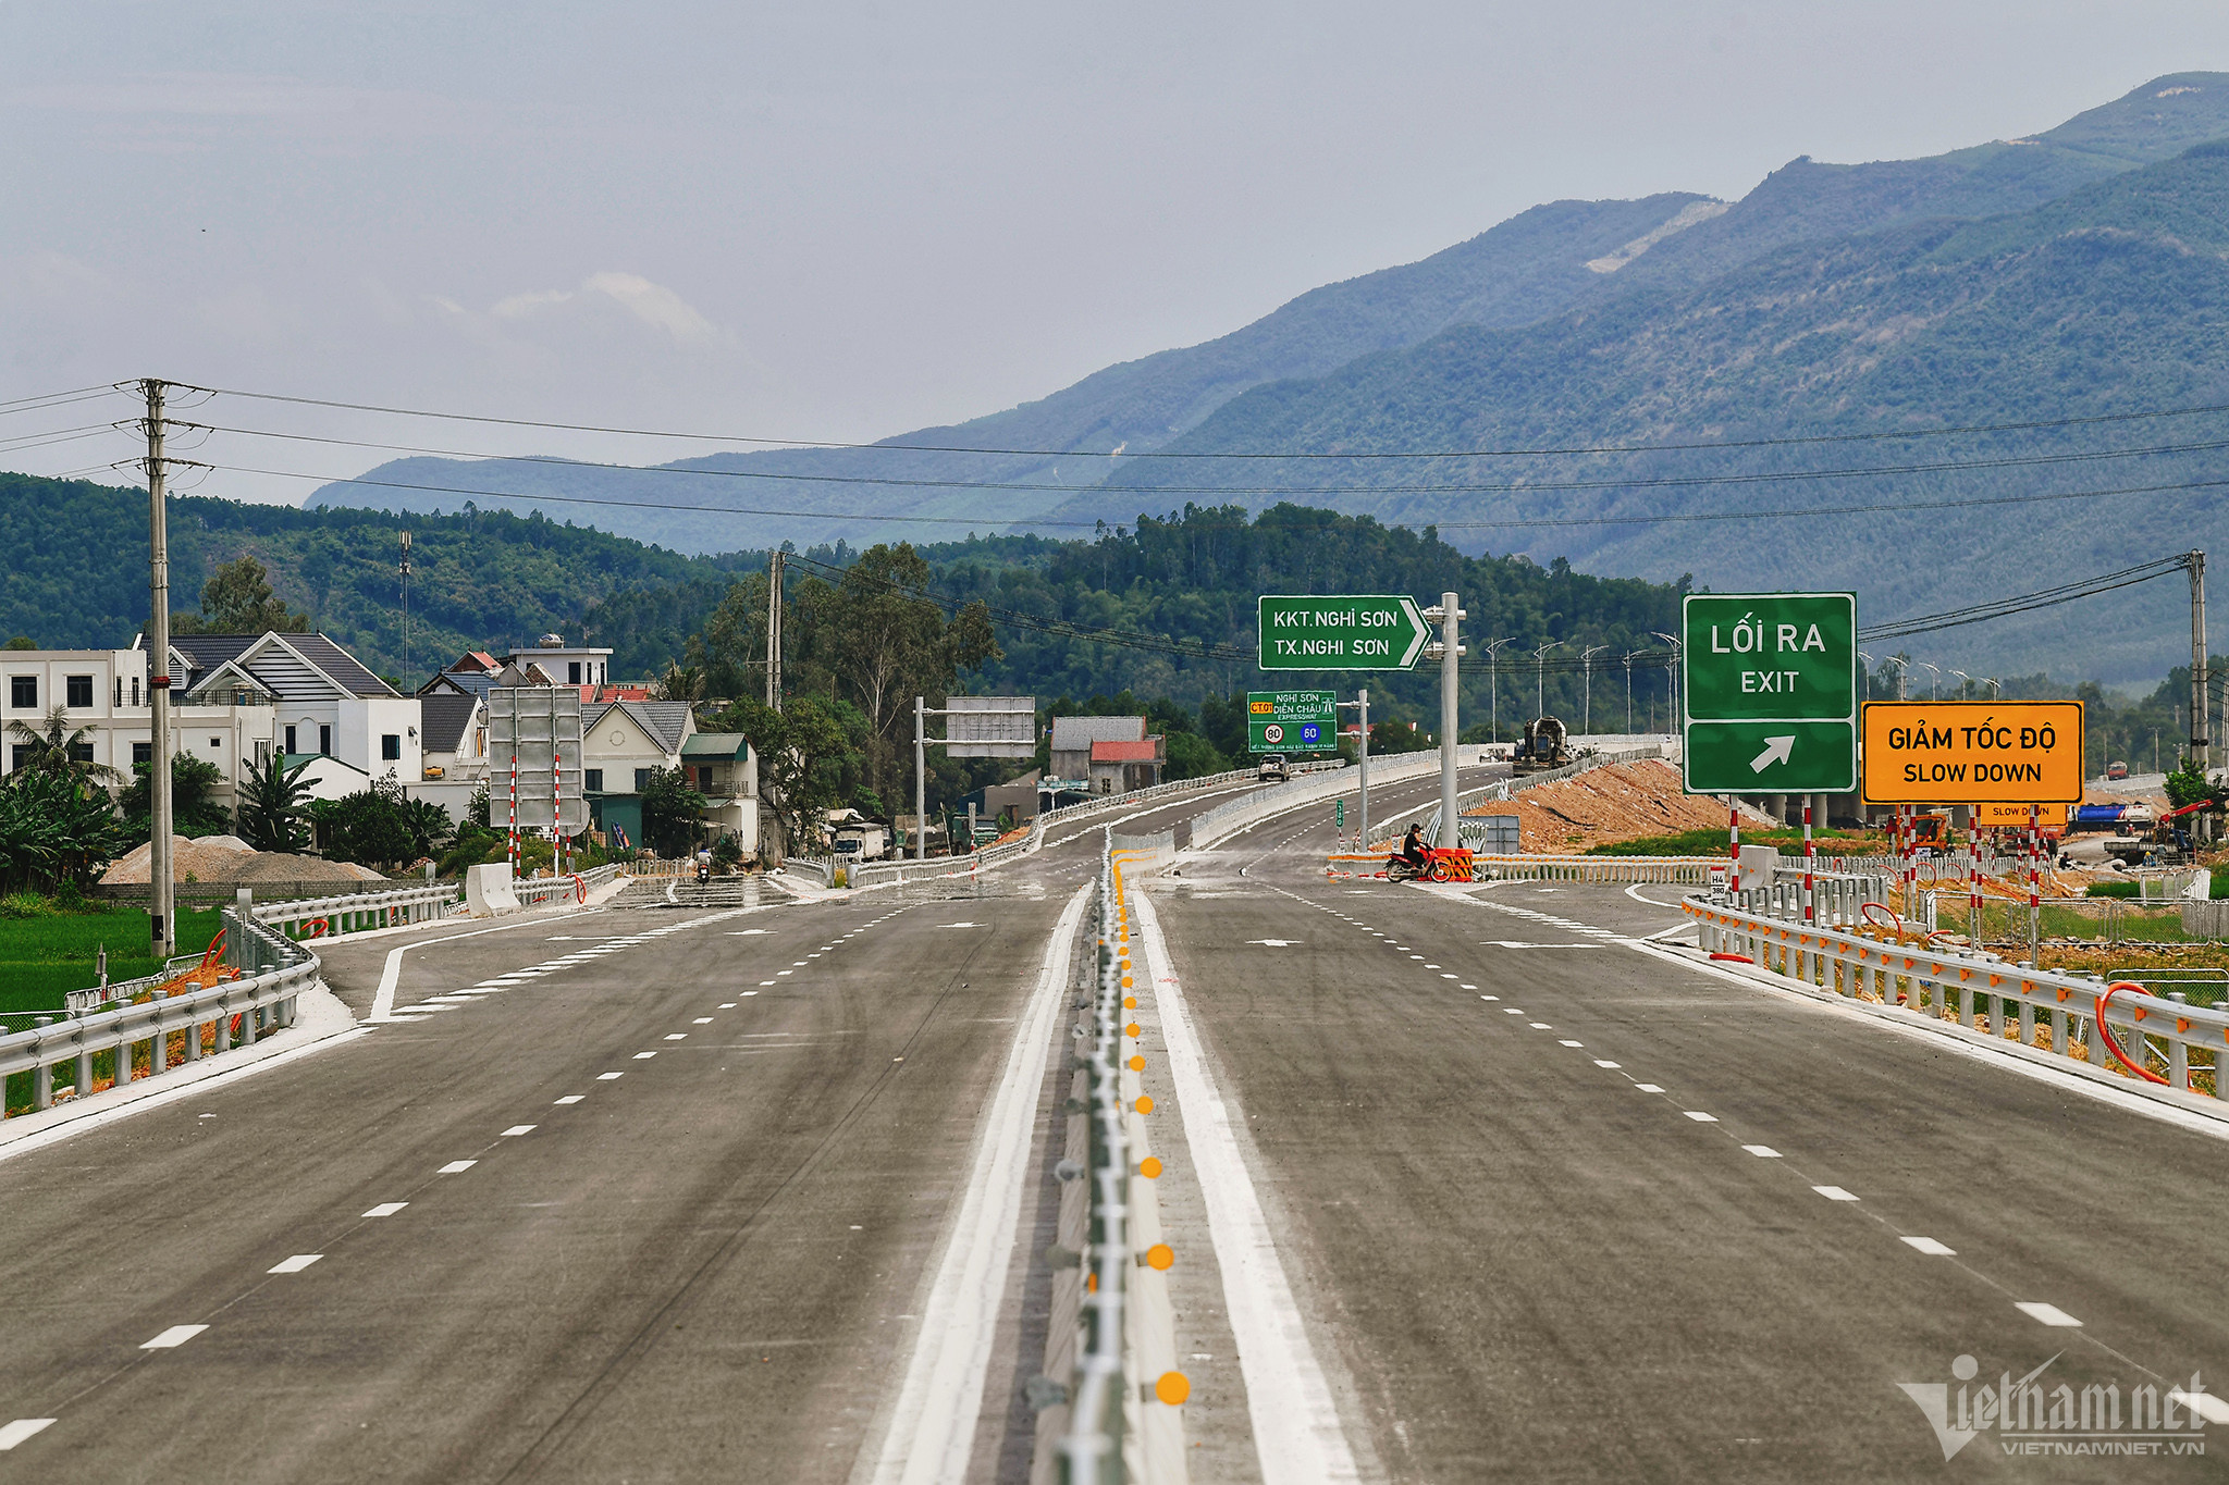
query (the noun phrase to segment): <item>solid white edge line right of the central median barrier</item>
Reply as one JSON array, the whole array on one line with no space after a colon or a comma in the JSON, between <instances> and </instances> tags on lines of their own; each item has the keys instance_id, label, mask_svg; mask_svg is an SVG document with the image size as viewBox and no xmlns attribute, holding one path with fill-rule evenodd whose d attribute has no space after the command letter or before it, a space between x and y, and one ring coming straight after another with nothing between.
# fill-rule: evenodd
<instances>
[{"instance_id":1,"label":"solid white edge line right of the central median barrier","mask_svg":"<svg viewBox=\"0 0 2229 1485\"><path fill-rule=\"evenodd\" d=\"M1331 1383L1315 1360L1293 1282L1271 1238L1268 1216L1230 1133L1230 1107L1208 1080L1193 1015L1184 1004L1184 986L1161 937L1161 922L1146 893L1135 893L1132 902L1152 968L1152 1000L1168 1044L1168 1073L1184 1115L1184 1142L1206 1196L1215 1262L1224 1271L1224 1307L1239 1347L1239 1374L1246 1378L1246 1414L1262 1461L1262 1485L1360 1481L1362 1472L1340 1427Z\"/></svg>"}]
</instances>

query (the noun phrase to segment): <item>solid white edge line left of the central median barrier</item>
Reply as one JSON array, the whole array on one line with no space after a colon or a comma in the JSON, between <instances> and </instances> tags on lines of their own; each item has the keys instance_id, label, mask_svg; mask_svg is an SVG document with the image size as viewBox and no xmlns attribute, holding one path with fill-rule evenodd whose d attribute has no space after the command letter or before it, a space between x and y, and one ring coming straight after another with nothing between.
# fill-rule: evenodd
<instances>
[{"instance_id":1,"label":"solid white edge line left of the central median barrier","mask_svg":"<svg viewBox=\"0 0 2229 1485\"><path fill-rule=\"evenodd\" d=\"M874 1485L961 1485L967 1478L1005 1276L1021 1236L1021 1196L1032 1184L1036 1100L1090 891L1092 884L1079 886L1061 911L1036 991L1014 1026L1005 1073L976 1133L952 1238L918 1309L921 1329L889 1412L889 1432L874 1454L874 1472L865 1474Z\"/></svg>"}]
</instances>

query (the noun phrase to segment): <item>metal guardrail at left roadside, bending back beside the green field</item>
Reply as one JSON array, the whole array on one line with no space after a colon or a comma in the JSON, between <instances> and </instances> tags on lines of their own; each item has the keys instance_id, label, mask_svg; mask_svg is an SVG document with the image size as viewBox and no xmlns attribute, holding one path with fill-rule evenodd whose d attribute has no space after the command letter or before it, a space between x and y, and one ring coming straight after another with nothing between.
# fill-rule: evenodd
<instances>
[{"instance_id":1,"label":"metal guardrail at left roadside, bending back beside the green field","mask_svg":"<svg viewBox=\"0 0 2229 1485\"><path fill-rule=\"evenodd\" d=\"M225 908L225 942L239 946L247 966L261 968L241 980L0 1035L0 1078L29 1073L29 1100L20 1111L36 1113L58 1098L91 1093L100 1062L111 1069L109 1082L120 1086L254 1046L259 1035L292 1026L296 997L317 986L317 955L236 908ZM145 1073L138 1071L143 1058ZM60 1089L58 1073L67 1073ZM18 1111L13 1086L7 1104Z\"/></svg>"}]
</instances>

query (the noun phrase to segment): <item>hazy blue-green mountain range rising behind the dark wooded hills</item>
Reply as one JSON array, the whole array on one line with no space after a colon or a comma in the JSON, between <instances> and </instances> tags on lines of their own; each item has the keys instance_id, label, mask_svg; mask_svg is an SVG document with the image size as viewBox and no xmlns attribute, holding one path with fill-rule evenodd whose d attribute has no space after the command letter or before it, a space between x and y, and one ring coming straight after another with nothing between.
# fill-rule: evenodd
<instances>
[{"instance_id":1,"label":"hazy blue-green mountain range rising behind the dark wooded hills","mask_svg":"<svg viewBox=\"0 0 2229 1485\"><path fill-rule=\"evenodd\" d=\"M1736 203L1540 205L878 448L660 470L406 459L312 503L539 501L702 552L1302 501L1596 572L1852 588L1866 621L1930 612L2229 534L2218 488L2176 488L2209 476L2220 414L2131 416L2229 403L2222 140L2229 73L2176 73L2028 138L1799 158ZM1970 427L1995 432L1953 432ZM1705 448L1667 450L1683 443ZM1409 456L1469 450L1587 452ZM2176 603L2129 590L1962 630L1944 655L2155 677Z\"/></svg>"}]
</instances>

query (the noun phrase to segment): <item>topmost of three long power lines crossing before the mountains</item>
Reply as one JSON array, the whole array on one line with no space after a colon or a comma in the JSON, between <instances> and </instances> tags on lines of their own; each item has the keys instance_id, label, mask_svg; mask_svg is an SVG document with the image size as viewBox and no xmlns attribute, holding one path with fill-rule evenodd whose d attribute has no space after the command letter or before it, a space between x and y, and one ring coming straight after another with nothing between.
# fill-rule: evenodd
<instances>
[{"instance_id":1,"label":"topmost of three long power lines crossing before the mountains","mask_svg":"<svg viewBox=\"0 0 2229 1485\"><path fill-rule=\"evenodd\" d=\"M2046 427L2091 427L2104 423L2140 423L2153 419L2191 419L2229 412L2229 403L2207 403L2198 407L2153 407L2140 412L2097 412L2073 419L2024 419L2017 423L1966 423L1955 427L1895 427L1850 434L1799 434L1783 439L1703 439L1692 443L1594 443L1594 445L1542 445L1542 448L1464 448L1464 450L1148 450L1141 454L1114 454L1114 450L1043 450L1043 448L976 448L965 443L856 443L845 439L773 439L765 434L704 434L671 427L624 427L611 423L557 423L548 419L499 419L470 412L435 412L428 407L386 407L379 403L343 403L339 399L285 396L279 392L250 392L243 387L198 387L172 383L187 392L210 396L241 396L265 403L288 403L296 407L332 407L341 412L374 412L401 419L439 419L448 423L486 423L493 427L539 427L553 432L620 434L631 439L680 439L691 443L758 443L765 448L827 448L827 450L876 450L898 454L999 454L1014 459L1545 459L1567 454L1663 454L1723 448L1790 448L1810 443L1884 443L1895 439L1953 439L1968 434L2040 432ZM118 387L120 390L120 387Z\"/></svg>"}]
</instances>

